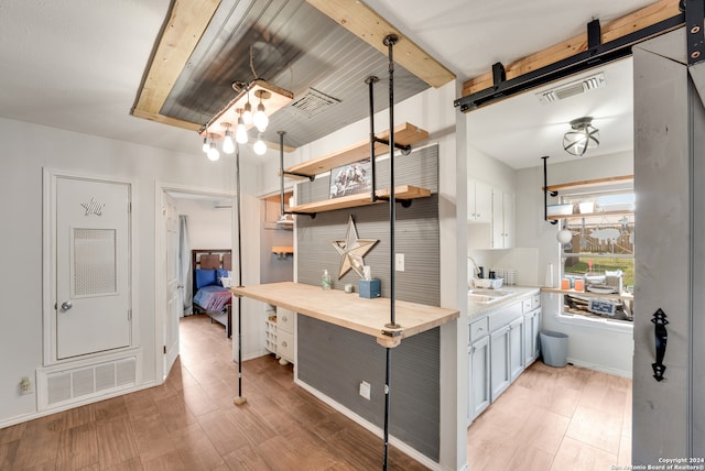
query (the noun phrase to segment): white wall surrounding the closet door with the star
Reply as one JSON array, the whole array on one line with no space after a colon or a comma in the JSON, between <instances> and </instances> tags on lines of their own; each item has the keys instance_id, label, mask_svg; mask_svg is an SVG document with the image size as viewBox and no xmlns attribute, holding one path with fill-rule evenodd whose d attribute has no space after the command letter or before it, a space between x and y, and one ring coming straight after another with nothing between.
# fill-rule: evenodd
<instances>
[{"instance_id":1,"label":"white wall surrounding the closet door with the star","mask_svg":"<svg viewBox=\"0 0 705 471\"><path fill-rule=\"evenodd\" d=\"M134 342L142 348L143 383L159 381L161 358L155 355L154 315L154 234L159 220L155 185L167 182L231 194L232 157L224 156L212 163L197 151L193 155L174 153L7 119L0 119L0 155L3 220L0 296L4 302L0 314L3 380L0 427L36 414L36 394L21 396L18 385L22 376L34 377L35 369L42 366L42 169L45 167L133 183L132 255L140 262L139 270L133 271ZM258 205L257 199L253 204ZM252 243L258 243L257 238ZM254 258L252 271L258 262ZM259 271L256 276L259 280Z\"/></svg>"}]
</instances>

